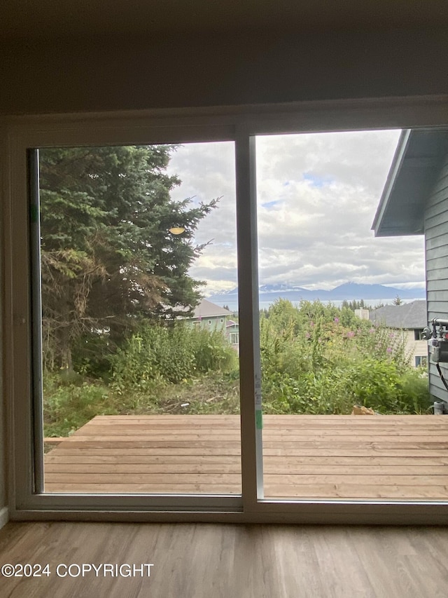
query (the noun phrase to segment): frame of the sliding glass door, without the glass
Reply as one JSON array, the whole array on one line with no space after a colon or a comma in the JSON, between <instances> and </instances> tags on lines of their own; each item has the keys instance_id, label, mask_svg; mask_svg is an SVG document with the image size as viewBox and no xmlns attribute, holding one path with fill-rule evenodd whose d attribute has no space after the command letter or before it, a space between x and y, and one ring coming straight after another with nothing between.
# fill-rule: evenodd
<instances>
[{"instance_id":1,"label":"frame of the sliding glass door, without the glass","mask_svg":"<svg viewBox=\"0 0 448 598\"><path fill-rule=\"evenodd\" d=\"M149 521L448 523L441 501L275 501L262 498L258 339L255 135L374 128L448 126L448 97L306 102L111 114L3 119L5 391L10 424L11 519ZM79 144L148 144L234 140L240 313L241 497L57 495L34 492L29 294L27 149ZM25 272L28 272L26 274ZM24 375L24 372L26 375ZM437 515L435 515L437 513Z\"/></svg>"}]
</instances>

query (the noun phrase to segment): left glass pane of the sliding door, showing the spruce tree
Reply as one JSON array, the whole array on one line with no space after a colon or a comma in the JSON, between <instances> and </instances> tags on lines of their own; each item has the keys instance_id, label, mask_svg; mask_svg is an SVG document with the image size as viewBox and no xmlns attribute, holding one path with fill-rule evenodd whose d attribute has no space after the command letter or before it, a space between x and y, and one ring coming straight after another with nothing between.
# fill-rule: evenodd
<instances>
[{"instance_id":1,"label":"left glass pane of the sliding door, showing the spruce tree","mask_svg":"<svg viewBox=\"0 0 448 598\"><path fill-rule=\"evenodd\" d=\"M233 142L38 156L44 491L241 494Z\"/></svg>"}]
</instances>

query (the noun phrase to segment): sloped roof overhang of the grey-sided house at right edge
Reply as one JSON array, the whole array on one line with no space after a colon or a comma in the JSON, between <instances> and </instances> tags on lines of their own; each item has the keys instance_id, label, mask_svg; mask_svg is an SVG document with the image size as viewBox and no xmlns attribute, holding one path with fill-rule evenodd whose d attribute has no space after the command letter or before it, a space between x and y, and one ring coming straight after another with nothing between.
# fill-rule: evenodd
<instances>
[{"instance_id":1,"label":"sloped roof overhang of the grey-sided house at right edge","mask_svg":"<svg viewBox=\"0 0 448 598\"><path fill-rule=\"evenodd\" d=\"M423 234L425 201L447 151L447 130L402 131L372 224L375 236Z\"/></svg>"}]
</instances>

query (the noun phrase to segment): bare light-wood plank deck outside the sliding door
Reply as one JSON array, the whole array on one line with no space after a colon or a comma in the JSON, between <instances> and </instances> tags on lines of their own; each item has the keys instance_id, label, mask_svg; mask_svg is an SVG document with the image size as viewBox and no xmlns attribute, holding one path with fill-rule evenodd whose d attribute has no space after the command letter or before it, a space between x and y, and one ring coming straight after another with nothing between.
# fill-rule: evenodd
<instances>
[{"instance_id":1,"label":"bare light-wood plank deck outside the sliding door","mask_svg":"<svg viewBox=\"0 0 448 598\"><path fill-rule=\"evenodd\" d=\"M448 416L264 417L266 498L448 499ZM239 416L97 416L45 491L240 494Z\"/></svg>"}]
</instances>

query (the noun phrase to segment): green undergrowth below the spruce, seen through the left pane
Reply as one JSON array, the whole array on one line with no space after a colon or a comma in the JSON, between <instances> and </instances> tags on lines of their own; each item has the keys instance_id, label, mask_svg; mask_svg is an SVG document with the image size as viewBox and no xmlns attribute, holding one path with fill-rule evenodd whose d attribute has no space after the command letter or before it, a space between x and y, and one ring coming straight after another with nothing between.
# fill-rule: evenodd
<instances>
[{"instance_id":1,"label":"green undergrowth below the spruce, seen through the left pane","mask_svg":"<svg viewBox=\"0 0 448 598\"><path fill-rule=\"evenodd\" d=\"M90 362L88 376L85 367L45 372L45 436L69 435L95 415L239 410L237 353L218 330L145 322L108 362Z\"/></svg>"}]
</instances>

